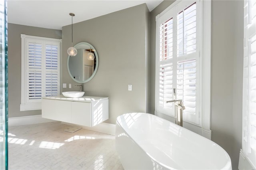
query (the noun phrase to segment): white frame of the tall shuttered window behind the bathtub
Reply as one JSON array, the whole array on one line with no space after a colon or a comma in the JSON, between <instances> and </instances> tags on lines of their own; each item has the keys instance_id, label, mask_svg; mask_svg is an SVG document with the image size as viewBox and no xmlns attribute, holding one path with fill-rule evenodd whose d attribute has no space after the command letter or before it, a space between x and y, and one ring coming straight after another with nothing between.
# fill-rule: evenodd
<instances>
[{"instance_id":1,"label":"white frame of the tall shuttered window behind the bathtub","mask_svg":"<svg viewBox=\"0 0 256 170\"><path fill-rule=\"evenodd\" d=\"M200 72L199 72L199 88L200 92L198 94L199 102L196 103L198 105L199 109L199 123L195 124L192 122L188 122L192 126L200 127L201 132L200 134L202 136L205 136L206 138L211 138L211 130L210 130L210 97L211 97L211 0L204 1L204 0L195 0L196 3L199 3L199 18L200 18L200 32L199 38L200 43L198 45L200 51L199 51L199 57L200 60L196 61L199 62L200 65ZM159 26L161 22L165 22L166 20L176 17L176 14L174 13L174 9L176 6L178 6L180 3L186 3L184 0L176 0L174 3L172 3L168 8L166 8L163 12L158 14L156 16L156 86L155 86L155 115L161 115L164 113L161 113L157 110L158 108L158 100L159 100L159 90L157 89L159 87L159 47L158 47L158 31ZM192 2L190 1L192 4ZM198 13L197 13L198 14ZM169 17L166 17L168 16ZM175 26L173 26L175 28ZM176 29L176 28L175 28ZM175 30L174 30L175 31ZM173 31L173 32L174 32ZM197 31L198 32L198 31ZM197 37L198 39L198 37ZM198 40L197 40L198 41ZM174 42L175 43L175 42ZM198 68L198 66L196 66ZM186 106L185 106L186 107ZM172 116L170 116L172 117ZM193 127L191 127L193 129ZM198 130L196 130L198 131Z\"/></svg>"}]
</instances>

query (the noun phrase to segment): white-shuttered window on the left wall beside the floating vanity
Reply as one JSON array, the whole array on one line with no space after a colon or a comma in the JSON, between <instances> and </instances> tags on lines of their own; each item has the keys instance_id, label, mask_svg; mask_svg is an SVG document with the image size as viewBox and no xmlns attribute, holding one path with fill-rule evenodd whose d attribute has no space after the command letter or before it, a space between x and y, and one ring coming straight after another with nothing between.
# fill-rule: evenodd
<instances>
[{"instance_id":1,"label":"white-shuttered window on the left wall beside the floating vanity","mask_svg":"<svg viewBox=\"0 0 256 170\"><path fill-rule=\"evenodd\" d=\"M20 111L41 109L41 98L60 93L61 40L21 34Z\"/></svg>"}]
</instances>

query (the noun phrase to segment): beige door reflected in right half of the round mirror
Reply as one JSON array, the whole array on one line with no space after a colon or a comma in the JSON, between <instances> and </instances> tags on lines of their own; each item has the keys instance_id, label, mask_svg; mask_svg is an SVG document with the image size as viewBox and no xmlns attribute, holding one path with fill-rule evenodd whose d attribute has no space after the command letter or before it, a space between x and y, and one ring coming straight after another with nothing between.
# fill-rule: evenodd
<instances>
[{"instance_id":1,"label":"beige door reflected in right half of the round mirror","mask_svg":"<svg viewBox=\"0 0 256 170\"><path fill-rule=\"evenodd\" d=\"M90 53L90 51L87 51L86 49L83 50L83 81L91 77L94 71L94 60L87 59L88 53Z\"/></svg>"}]
</instances>

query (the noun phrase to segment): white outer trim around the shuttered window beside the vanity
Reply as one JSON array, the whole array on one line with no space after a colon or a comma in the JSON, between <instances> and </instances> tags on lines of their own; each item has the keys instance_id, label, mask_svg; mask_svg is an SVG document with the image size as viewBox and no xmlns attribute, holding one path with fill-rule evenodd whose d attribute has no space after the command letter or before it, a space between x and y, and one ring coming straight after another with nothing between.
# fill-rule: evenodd
<instances>
[{"instance_id":1,"label":"white outer trim around the shuttered window beside the vanity","mask_svg":"<svg viewBox=\"0 0 256 170\"><path fill-rule=\"evenodd\" d=\"M45 38L45 37L37 37L37 36L28 36L25 34L20 34L21 37L21 101L20 101L20 111L30 111L30 110L41 110L42 105L41 102L38 103L26 103L26 93L27 93L27 88L26 88L26 67L27 67L27 62L26 62L26 38L30 39L35 39L35 40L42 40L42 41L49 41L49 42L59 42L60 43L60 56L61 56L61 44L62 44L62 39L55 39L55 38ZM61 59L61 57L60 57ZM58 86L60 89L60 59L59 59L59 68L58 68L58 73L59 73L59 79L58 79ZM60 90L59 92L60 93Z\"/></svg>"}]
</instances>

